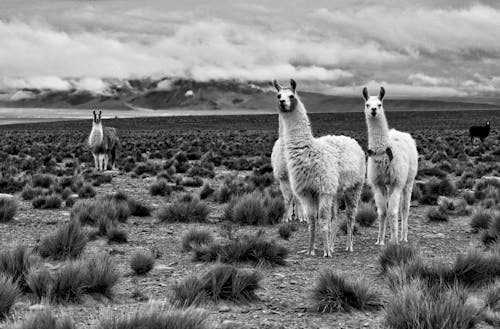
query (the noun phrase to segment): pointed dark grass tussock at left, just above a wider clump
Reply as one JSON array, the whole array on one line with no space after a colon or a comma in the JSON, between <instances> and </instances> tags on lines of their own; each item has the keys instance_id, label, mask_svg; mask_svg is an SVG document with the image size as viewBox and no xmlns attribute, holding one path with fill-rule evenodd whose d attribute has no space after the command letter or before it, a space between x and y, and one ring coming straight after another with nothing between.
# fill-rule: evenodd
<instances>
[{"instance_id":1,"label":"pointed dark grass tussock at left, just above a wider clump","mask_svg":"<svg viewBox=\"0 0 500 329\"><path fill-rule=\"evenodd\" d=\"M44 237L38 245L38 253L43 258L60 260L77 258L85 250L87 234L80 222L70 220L56 232Z\"/></svg>"}]
</instances>

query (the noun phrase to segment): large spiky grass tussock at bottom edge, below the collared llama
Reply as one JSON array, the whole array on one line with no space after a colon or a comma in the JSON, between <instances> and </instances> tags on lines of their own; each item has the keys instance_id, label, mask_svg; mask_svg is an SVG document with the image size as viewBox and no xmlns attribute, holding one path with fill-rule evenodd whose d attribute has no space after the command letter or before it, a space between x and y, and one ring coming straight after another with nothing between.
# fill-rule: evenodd
<instances>
[{"instance_id":1,"label":"large spiky grass tussock at bottom edge, below the collared llama","mask_svg":"<svg viewBox=\"0 0 500 329\"><path fill-rule=\"evenodd\" d=\"M384 311L388 329L469 329L480 320L480 312L467 304L467 291L454 285L429 292L425 283L411 282L389 299Z\"/></svg>"}]
</instances>

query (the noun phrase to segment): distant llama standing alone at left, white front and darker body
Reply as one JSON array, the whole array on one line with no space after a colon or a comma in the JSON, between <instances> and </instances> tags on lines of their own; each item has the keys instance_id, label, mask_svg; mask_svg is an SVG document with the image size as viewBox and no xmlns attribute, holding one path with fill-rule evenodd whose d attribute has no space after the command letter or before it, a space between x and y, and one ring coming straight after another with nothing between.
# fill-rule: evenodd
<instances>
[{"instance_id":1,"label":"distant llama standing alone at left, white front and darker body","mask_svg":"<svg viewBox=\"0 0 500 329\"><path fill-rule=\"evenodd\" d=\"M94 111L94 120L92 121L92 131L90 132L88 145L94 156L95 168L98 171L108 169L108 161L111 157L111 168L116 170L116 151L118 149L118 134L112 127L102 127L102 111Z\"/></svg>"}]
</instances>

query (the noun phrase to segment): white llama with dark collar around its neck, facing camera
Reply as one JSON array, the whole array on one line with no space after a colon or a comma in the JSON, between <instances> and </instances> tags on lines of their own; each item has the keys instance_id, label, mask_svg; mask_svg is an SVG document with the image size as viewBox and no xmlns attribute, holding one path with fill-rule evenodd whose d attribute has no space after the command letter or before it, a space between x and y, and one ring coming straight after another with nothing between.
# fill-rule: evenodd
<instances>
[{"instance_id":1,"label":"white llama with dark collar around its neck, facing camera","mask_svg":"<svg viewBox=\"0 0 500 329\"><path fill-rule=\"evenodd\" d=\"M366 125L368 127L368 182L375 192L379 219L377 245L385 244L387 219L391 225L391 242L398 243L398 216L401 218L401 240L408 241L408 215L413 182L418 169L418 152L410 134L389 130L382 100L368 96L363 89Z\"/></svg>"}]
</instances>

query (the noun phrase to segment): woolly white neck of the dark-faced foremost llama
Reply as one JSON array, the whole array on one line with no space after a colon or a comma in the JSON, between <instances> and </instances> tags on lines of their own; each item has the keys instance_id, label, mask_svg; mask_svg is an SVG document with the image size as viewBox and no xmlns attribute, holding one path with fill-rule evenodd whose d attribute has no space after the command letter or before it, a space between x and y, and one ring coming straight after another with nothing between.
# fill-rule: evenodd
<instances>
[{"instance_id":1,"label":"woolly white neck of the dark-faced foremost llama","mask_svg":"<svg viewBox=\"0 0 500 329\"><path fill-rule=\"evenodd\" d=\"M314 138L304 104L297 100L296 106L293 112L280 114L283 120L283 139L288 150L305 151L312 146Z\"/></svg>"}]
</instances>

